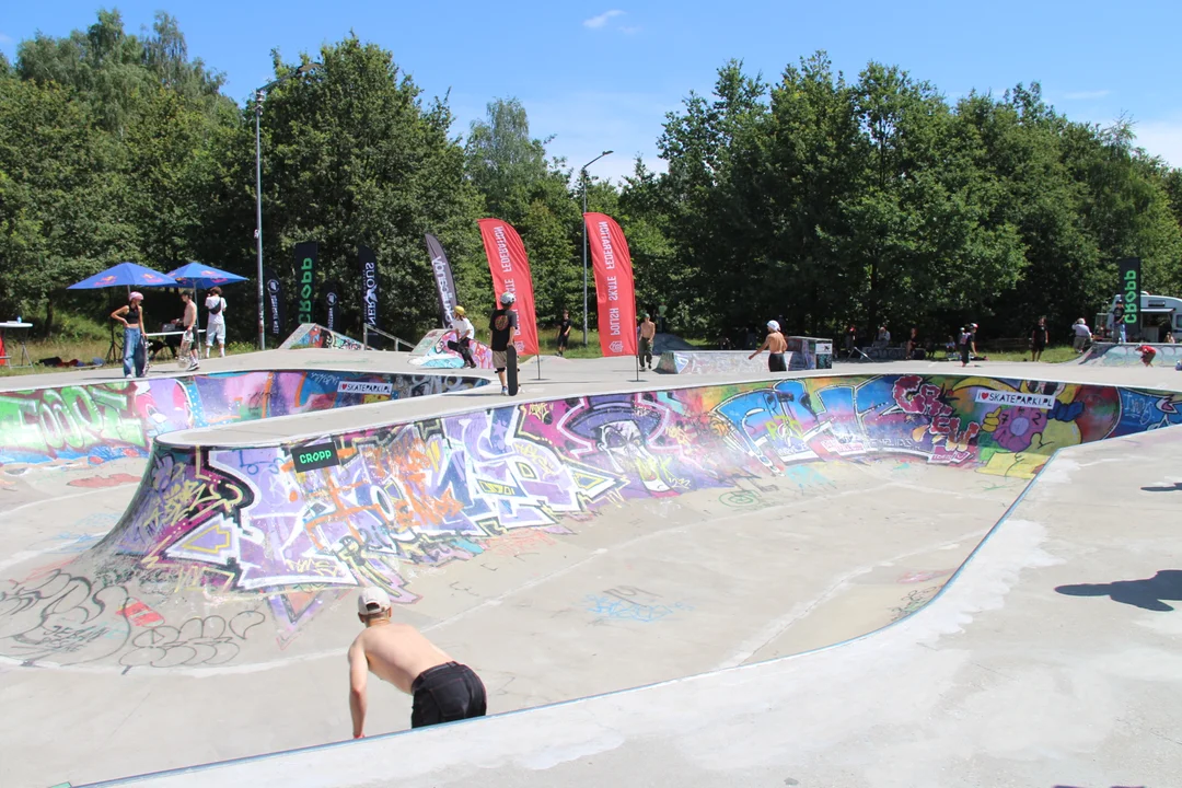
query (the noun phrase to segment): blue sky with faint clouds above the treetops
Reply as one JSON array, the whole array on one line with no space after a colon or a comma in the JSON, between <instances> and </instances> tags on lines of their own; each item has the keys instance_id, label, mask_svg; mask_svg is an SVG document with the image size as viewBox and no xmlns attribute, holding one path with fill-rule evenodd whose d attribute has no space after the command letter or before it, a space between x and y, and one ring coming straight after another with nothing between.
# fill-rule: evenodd
<instances>
[{"instance_id":1,"label":"blue sky with faint clouds above the treetops","mask_svg":"<svg viewBox=\"0 0 1182 788\"><path fill-rule=\"evenodd\" d=\"M0 50L41 31L90 25L99 5L77 0L5 4ZM394 52L427 96L450 90L455 133L492 98L517 97L552 155L618 177L637 155L656 169L665 112L690 90L708 92L728 58L775 79L784 66L826 50L849 77L869 61L896 64L950 99L972 89L1040 82L1072 119L1137 123L1138 144L1182 167L1177 40L1182 1L895 0L818 4L768 0L591 0L584 2L398 2L394 0L130 0L129 31L156 9L180 20L191 56L227 77L242 100L267 80L272 48L294 60L355 31Z\"/></svg>"}]
</instances>

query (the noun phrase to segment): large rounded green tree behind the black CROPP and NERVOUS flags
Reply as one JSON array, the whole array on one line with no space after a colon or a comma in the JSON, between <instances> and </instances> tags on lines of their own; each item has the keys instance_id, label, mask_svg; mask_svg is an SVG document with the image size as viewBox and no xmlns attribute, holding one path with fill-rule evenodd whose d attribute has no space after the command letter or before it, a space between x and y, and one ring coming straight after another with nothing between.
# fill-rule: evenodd
<instances>
[{"instance_id":1,"label":"large rounded green tree behind the black CROPP and NERVOUS flags","mask_svg":"<svg viewBox=\"0 0 1182 788\"><path fill-rule=\"evenodd\" d=\"M439 325L424 233L440 237L456 266L461 299L479 279L479 201L463 150L448 137L450 110L441 100L424 106L390 52L353 35L323 46L319 61L277 85L264 105L265 256L294 286L294 245L319 241L319 279L353 284L356 306L343 315L359 331L357 249L368 245L378 259L382 327L416 339ZM277 56L275 76L299 65Z\"/></svg>"}]
</instances>

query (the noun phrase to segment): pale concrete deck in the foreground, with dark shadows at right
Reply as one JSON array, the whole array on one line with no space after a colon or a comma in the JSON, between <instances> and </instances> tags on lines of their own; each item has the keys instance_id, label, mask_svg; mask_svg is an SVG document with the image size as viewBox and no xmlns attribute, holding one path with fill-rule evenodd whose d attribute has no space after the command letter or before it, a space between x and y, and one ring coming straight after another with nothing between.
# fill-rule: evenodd
<instances>
[{"instance_id":1,"label":"pale concrete deck in the foreground, with dark shadows at right","mask_svg":"<svg viewBox=\"0 0 1182 788\"><path fill-rule=\"evenodd\" d=\"M1174 786L1176 432L1057 455L931 604L839 647L128 784Z\"/></svg>"}]
</instances>

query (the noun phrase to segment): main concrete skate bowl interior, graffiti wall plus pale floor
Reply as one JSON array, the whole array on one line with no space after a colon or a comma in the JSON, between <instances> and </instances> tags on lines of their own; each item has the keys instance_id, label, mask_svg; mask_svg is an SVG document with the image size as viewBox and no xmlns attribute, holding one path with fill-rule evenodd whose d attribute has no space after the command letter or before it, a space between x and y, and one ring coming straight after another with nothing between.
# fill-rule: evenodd
<instances>
[{"instance_id":1,"label":"main concrete skate bowl interior, graffiti wall plus pale floor","mask_svg":"<svg viewBox=\"0 0 1182 788\"><path fill-rule=\"evenodd\" d=\"M158 438L97 547L0 592L7 705L37 723L2 744L13 783L345 738L366 585L480 672L494 714L858 637L939 593L1054 451L1182 422L1177 393L910 373L494 402ZM63 676L70 703L39 702ZM404 729L383 689L370 731Z\"/></svg>"}]
</instances>

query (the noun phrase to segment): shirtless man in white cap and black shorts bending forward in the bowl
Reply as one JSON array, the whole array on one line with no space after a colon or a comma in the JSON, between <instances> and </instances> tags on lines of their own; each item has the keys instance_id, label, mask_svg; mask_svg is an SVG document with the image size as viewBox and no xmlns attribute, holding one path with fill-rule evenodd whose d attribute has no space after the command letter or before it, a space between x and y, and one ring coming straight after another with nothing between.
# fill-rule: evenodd
<instances>
[{"instance_id":1,"label":"shirtless man in white cap and black shorts bending forward in the bowl","mask_svg":"<svg viewBox=\"0 0 1182 788\"><path fill-rule=\"evenodd\" d=\"M485 685L467 665L454 662L408 624L390 620L390 598L381 588L364 588L357 618L365 630L349 646L349 710L353 738L363 736L365 682L370 671L415 698L410 727L483 717Z\"/></svg>"}]
</instances>

